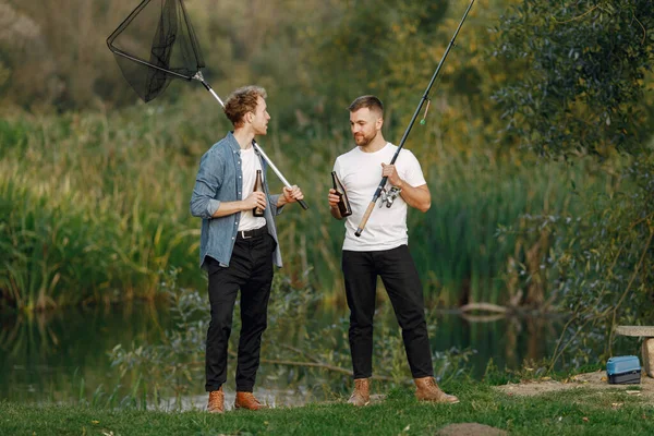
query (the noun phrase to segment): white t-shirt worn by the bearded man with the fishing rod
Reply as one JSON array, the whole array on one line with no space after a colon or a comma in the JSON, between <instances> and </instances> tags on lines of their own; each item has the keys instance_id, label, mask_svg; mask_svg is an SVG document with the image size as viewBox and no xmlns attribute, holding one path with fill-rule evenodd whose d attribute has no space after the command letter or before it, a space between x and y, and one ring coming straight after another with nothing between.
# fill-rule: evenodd
<instances>
[{"instance_id":1,"label":"white t-shirt worn by the bearded man with the fishing rod","mask_svg":"<svg viewBox=\"0 0 654 436\"><path fill-rule=\"evenodd\" d=\"M396 197L391 207L386 207L386 204L379 207L382 204L379 197L361 237L354 235L382 181L382 162L390 164L397 149L398 147L390 143L375 153L364 153L360 147L354 147L336 159L334 171L343 184L352 206L352 215L346 218L343 250L382 251L396 249L409 242L407 203L401 195ZM422 186L427 183L420 162L408 149L402 148L395 166L400 179L411 186ZM386 190L389 189L390 183L387 182Z\"/></svg>"}]
</instances>

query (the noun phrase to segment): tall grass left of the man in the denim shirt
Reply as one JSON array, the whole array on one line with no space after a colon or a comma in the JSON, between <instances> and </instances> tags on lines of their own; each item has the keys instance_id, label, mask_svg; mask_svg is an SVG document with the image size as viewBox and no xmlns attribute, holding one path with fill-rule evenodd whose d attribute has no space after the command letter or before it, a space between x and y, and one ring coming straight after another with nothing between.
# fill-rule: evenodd
<instances>
[{"instance_id":1,"label":"tall grass left of the man in the denim shirt","mask_svg":"<svg viewBox=\"0 0 654 436\"><path fill-rule=\"evenodd\" d=\"M183 155L160 147L156 128L126 117L0 124L11 140L0 164L0 288L11 305L153 299L171 265L202 282L191 277L197 230L182 207L191 171L177 171Z\"/></svg>"}]
</instances>

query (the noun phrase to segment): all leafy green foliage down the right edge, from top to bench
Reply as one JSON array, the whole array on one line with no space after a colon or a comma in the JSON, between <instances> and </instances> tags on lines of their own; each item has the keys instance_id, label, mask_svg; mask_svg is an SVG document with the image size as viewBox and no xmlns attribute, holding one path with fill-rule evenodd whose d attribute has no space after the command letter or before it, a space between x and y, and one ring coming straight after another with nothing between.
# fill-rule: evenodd
<instances>
[{"instance_id":1,"label":"all leafy green foliage down the right edge, from top to bench","mask_svg":"<svg viewBox=\"0 0 654 436\"><path fill-rule=\"evenodd\" d=\"M523 0L497 28L495 47L519 74L496 93L506 132L540 155L610 157L614 195L585 197L578 217L540 216L544 265L573 313L554 361L588 363L619 323L654 319L654 158L649 135L654 8L649 0ZM621 157L615 150L622 152ZM620 162L620 164L617 164ZM571 186L574 190L574 186ZM574 230L572 230L574 229ZM597 347L600 346L600 347Z\"/></svg>"}]
</instances>

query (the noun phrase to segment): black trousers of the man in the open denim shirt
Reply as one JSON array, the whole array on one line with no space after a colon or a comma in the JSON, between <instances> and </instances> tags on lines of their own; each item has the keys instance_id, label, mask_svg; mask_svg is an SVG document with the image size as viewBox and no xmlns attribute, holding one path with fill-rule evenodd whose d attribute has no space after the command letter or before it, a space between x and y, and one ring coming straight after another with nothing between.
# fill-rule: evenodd
<instances>
[{"instance_id":1,"label":"black trousers of the man in the open denim shirt","mask_svg":"<svg viewBox=\"0 0 654 436\"><path fill-rule=\"evenodd\" d=\"M237 365L237 390L252 392L259 366L262 335L268 326L268 299L272 284L272 252L277 243L268 233L237 238L229 267L207 259L211 320L207 331L207 391L227 380L227 347L232 315L241 290L241 335Z\"/></svg>"}]
</instances>

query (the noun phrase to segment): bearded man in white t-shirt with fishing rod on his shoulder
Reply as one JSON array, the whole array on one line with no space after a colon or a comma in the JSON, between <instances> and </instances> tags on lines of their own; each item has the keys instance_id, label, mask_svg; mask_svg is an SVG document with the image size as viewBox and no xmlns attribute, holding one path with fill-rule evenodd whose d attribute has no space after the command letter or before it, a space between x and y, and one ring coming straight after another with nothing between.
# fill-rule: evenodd
<instances>
[{"instance_id":1,"label":"bearded man in white t-shirt with fishing rod on his shoulder","mask_svg":"<svg viewBox=\"0 0 654 436\"><path fill-rule=\"evenodd\" d=\"M422 284L407 245L407 206L424 213L432 202L420 162L411 152L402 149L395 165L388 165L398 147L384 140L384 105L377 97L359 97L348 109L356 147L339 156L334 165L352 208L352 215L346 219L342 252L354 370L354 391L348 402L354 405L370 402L377 277L382 277L402 329L416 398L458 402L457 397L440 390L434 379ZM356 237L354 233L383 177L388 178L387 192L395 186L400 193L391 207L375 207L364 231ZM335 190L329 190L328 199L331 215L342 219Z\"/></svg>"}]
</instances>

